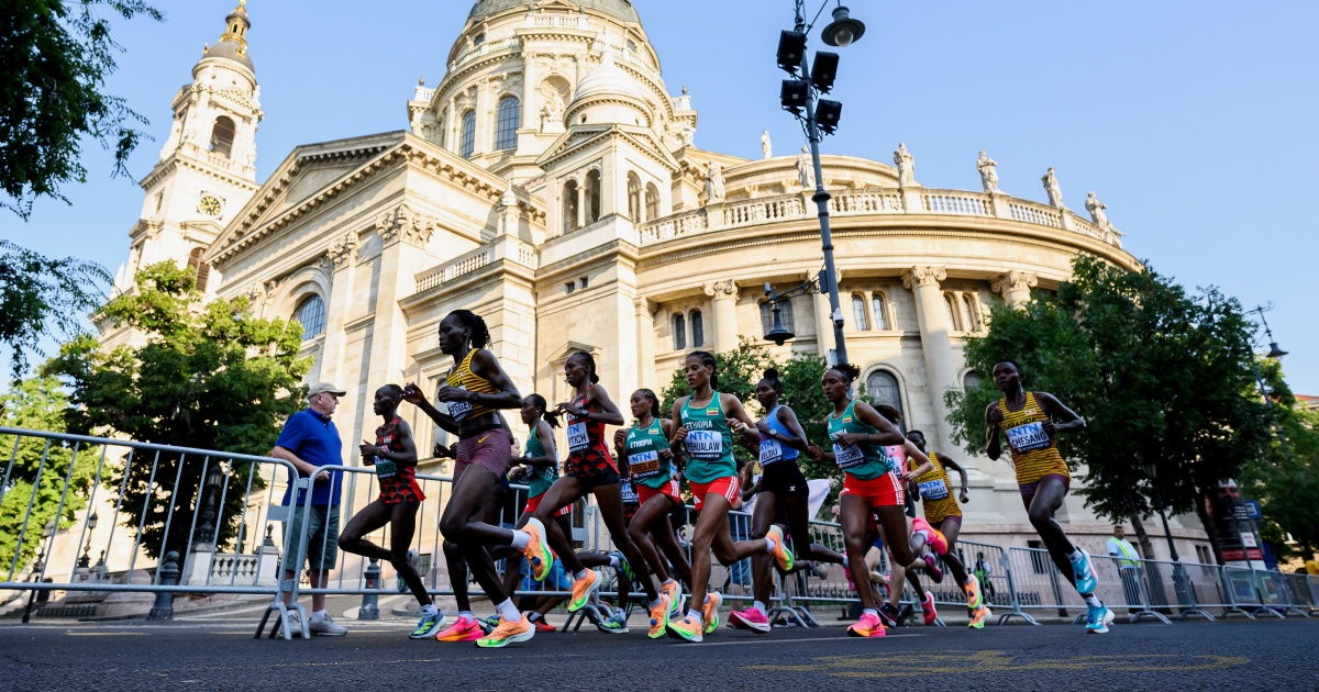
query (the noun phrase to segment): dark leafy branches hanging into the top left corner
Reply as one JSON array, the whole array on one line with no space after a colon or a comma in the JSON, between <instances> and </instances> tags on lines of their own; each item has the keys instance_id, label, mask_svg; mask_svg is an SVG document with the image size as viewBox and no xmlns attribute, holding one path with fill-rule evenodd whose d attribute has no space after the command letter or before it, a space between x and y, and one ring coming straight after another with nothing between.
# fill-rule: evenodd
<instances>
[{"instance_id":1,"label":"dark leafy branches hanging into the top left corner","mask_svg":"<svg viewBox=\"0 0 1319 692\"><path fill-rule=\"evenodd\" d=\"M40 196L86 182L78 161L84 138L115 153L115 175L128 174L128 154L145 136L142 116L124 99L103 94L115 72L104 12L125 20L165 16L142 0L9 0L0 12L0 190L22 219Z\"/></svg>"}]
</instances>

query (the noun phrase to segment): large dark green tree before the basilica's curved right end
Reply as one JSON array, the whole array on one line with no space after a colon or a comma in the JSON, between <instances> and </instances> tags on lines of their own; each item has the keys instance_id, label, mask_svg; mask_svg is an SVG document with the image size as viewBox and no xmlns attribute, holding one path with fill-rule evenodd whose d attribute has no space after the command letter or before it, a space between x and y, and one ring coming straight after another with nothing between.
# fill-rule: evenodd
<instances>
[{"instance_id":1,"label":"large dark green tree before the basilica's curved right end","mask_svg":"<svg viewBox=\"0 0 1319 692\"><path fill-rule=\"evenodd\" d=\"M1057 295L1000 306L985 336L968 340L967 362L984 384L946 394L950 422L979 452L985 406L1000 397L993 364L1021 362L1029 389L1058 395L1087 420L1086 431L1060 438L1063 455L1084 469L1086 505L1130 521L1150 550L1141 519L1154 511L1154 484L1170 513L1196 511L1210 526L1206 493L1268 448L1268 414L1242 395L1253 386L1252 333L1241 306L1217 289L1191 295L1150 268L1083 254Z\"/></svg>"}]
</instances>

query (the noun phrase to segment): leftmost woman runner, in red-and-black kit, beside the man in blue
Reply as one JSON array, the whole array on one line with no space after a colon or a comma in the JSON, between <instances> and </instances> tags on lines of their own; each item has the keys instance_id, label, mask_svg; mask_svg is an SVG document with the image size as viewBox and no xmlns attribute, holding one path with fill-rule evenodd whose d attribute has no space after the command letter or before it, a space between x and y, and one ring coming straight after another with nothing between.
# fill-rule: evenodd
<instances>
[{"instance_id":1,"label":"leftmost woman runner, in red-and-black kit, beside the man in blue","mask_svg":"<svg viewBox=\"0 0 1319 692\"><path fill-rule=\"evenodd\" d=\"M385 385L376 390L372 409L385 422L376 428L376 443L364 442L359 449L361 463L376 468L380 497L348 521L348 526L339 534L339 550L388 560L394 565L398 576L408 584L408 591L421 604L421 621L408 638L425 639L435 635L445 621L445 614L435 608L435 602L426 593L421 575L408 562L408 546L417 529L417 510L421 509L426 496L417 485L417 443L408 422L398 418L398 403L402 398L404 389L398 385ZM390 530L389 550L363 538L385 525L389 525Z\"/></svg>"}]
</instances>

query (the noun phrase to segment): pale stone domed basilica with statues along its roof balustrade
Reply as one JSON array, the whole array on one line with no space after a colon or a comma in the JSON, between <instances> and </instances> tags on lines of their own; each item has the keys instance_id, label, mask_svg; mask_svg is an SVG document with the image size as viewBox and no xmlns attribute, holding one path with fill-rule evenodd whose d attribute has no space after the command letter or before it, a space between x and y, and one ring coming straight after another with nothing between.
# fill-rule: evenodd
<instances>
[{"instance_id":1,"label":"pale stone domed basilica with statues along its roof balustrade","mask_svg":"<svg viewBox=\"0 0 1319 692\"><path fill-rule=\"evenodd\" d=\"M565 401L563 361L584 349L625 402L667 384L687 351L761 340L765 283L786 290L822 265L799 152L772 156L768 134L756 161L696 146L694 98L665 86L628 0L480 0L443 79L400 104L406 130L298 146L265 181L249 26L240 3L171 103L119 286L173 258L208 295L247 294L262 316L297 318L309 380L348 390L336 414L346 451L375 427L376 388L433 391L447 373L435 333L454 308L485 318L524 394ZM984 153L977 167L984 190L962 191L921 186L905 146L894 166L823 159L849 359L877 401L968 465L963 535L1024 544L1034 531L1012 468L950 442L943 391L976 377L964 337L991 306L1054 289L1079 252L1138 264L1093 196L1087 217L1062 204L1051 170L1042 204L1000 192ZM793 298L782 316L797 337L776 357L832 348L824 295ZM443 434L405 411L430 449ZM1059 519L1104 552L1108 526L1079 498ZM1187 555L1203 543L1194 523L1174 529Z\"/></svg>"}]
</instances>

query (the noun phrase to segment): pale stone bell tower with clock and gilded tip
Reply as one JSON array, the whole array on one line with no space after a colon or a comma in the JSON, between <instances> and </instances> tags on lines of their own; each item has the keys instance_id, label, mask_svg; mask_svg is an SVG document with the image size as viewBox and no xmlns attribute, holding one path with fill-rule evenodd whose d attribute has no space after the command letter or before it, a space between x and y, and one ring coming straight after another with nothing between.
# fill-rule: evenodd
<instances>
[{"instance_id":1,"label":"pale stone bell tower with clock and gilded tip","mask_svg":"<svg viewBox=\"0 0 1319 692\"><path fill-rule=\"evenodd\" d=\"M259 187L256 129L264 113L245 5L239 0L224 17L220 40L202 49L193 82L170 103L173 124L160 163L141 181L142 212L115 278L119 291L131 290L141 268L164 260L197 272L203 291L219 285L202 256Z\"/></svg>"}]
</instances>

